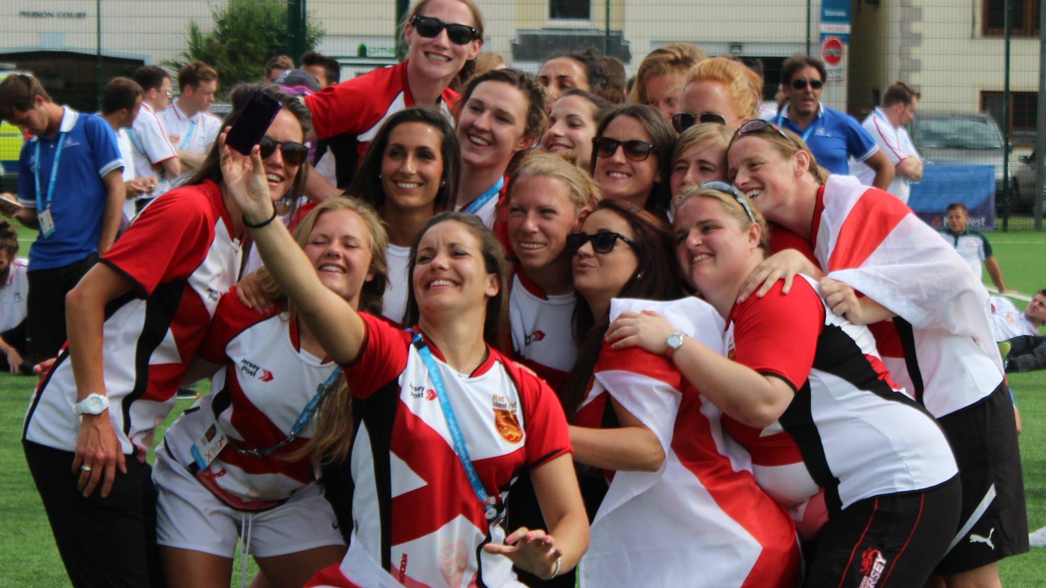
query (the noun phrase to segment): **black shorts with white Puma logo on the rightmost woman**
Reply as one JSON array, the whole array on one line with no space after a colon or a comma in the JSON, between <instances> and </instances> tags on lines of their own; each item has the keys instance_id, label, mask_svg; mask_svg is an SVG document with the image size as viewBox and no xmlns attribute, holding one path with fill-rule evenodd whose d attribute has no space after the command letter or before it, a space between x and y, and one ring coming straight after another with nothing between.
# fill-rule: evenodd
<instances>
[{"instance_id":1,"label":"black shorts with white Puma logo on the rightmost woman","mask_svg":"<svg viewBox=\"0 0 1046 588\"><path fill-rule=\"evenodd\" d=\"M962 480L962 512L951 548L937 566L950 575L1028 550L1024 477L1014 404L1005 384L941 416Z\"/></svg>"}]
</instances>

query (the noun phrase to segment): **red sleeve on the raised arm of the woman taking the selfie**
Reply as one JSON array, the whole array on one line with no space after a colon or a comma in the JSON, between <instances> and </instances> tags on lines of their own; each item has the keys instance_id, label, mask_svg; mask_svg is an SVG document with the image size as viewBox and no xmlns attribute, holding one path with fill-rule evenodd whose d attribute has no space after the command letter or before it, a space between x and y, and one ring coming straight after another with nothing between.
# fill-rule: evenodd
<instances>
[{"instance_id":1,"label":"red sleeve on the raised arm of the woman taking the selfie","mask_svg":"<svg viewBox=\"0 0 1046 588\"><path fill-rule=\"evenodd\" d=\"M360 313L366 334L360 357L341 366L349 390L356 398L367 398L395 380L407 367L411 334L367 313Z\"/></svg>"}]
</instances>

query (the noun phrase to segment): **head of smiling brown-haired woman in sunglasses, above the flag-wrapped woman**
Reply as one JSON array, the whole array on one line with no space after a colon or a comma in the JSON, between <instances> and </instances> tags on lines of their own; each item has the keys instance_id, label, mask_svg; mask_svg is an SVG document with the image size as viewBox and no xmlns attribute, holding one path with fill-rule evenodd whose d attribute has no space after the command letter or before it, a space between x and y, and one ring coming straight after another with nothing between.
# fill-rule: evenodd
<instances>
[{"instance_id":1,"label":"head of smiling brown-haired woman in sunglasses, above the flag-wrapped woman","mask_svg":"<svg viewBox=\"0 0 1046 588\"><path fill-rule=\"evenodd\" d=\"M607 113L592 139L592 177L602 197L666 216L675 142L654 107L628 105Z\"/></svg>"}]
</instances>

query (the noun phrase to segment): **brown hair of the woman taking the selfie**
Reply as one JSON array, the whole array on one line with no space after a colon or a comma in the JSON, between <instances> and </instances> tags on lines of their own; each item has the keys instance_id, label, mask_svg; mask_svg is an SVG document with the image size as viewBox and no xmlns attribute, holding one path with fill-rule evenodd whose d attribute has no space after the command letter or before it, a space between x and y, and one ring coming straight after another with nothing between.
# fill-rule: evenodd
<instances>
[{"instance_id":1,"label":"brown hair of the woman taking the selfie","mask_svg":"<svg viewBox=\"0 0 1046 588\"><path fill-rule=\"evenodd\" d=\"M483 265L487 273L498 276L500 288L498 293L486 301L486 317L483 320L483 340L492 347L508 353L510 347L508 333L508 282L511 279L511 266L505 258L505 250L494 236L491 229L486 228L483 221L475 214L468 212L455 212L447 210L440 212L425 224L425 227L414 236L414 243L410 246L410 263L407 265L407 277L409 287L407 289L407 314L404 317L404 324L416 324L420 318L417 309L417 300L414 298L414 266L417 265L417 247L422 243L422 238L429 229L448 222L461 223L469 232L476 239L480 251L483 255Z\"/></svg>"}]
</instances>

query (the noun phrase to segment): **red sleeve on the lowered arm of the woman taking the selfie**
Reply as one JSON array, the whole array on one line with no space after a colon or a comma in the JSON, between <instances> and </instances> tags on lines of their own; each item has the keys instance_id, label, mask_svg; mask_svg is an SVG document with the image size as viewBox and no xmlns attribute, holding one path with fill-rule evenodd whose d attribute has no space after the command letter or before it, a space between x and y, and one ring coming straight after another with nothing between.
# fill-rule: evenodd
<instances>
[{"instance_id":1,"label":"red sleeve on the lowered arm of the woman taking the selfie","mask_svg":"<svg viewBox=\"0 0 1046 588\"><path fill-rule=\"evenodd\" d=\"M507 365L510 372L515 372L516 385L523 399L527 467L532 470L550 459L572 453L567 417L560 398L544 380L522 364L509 362Z\"/></svg>"}]
</instances>

